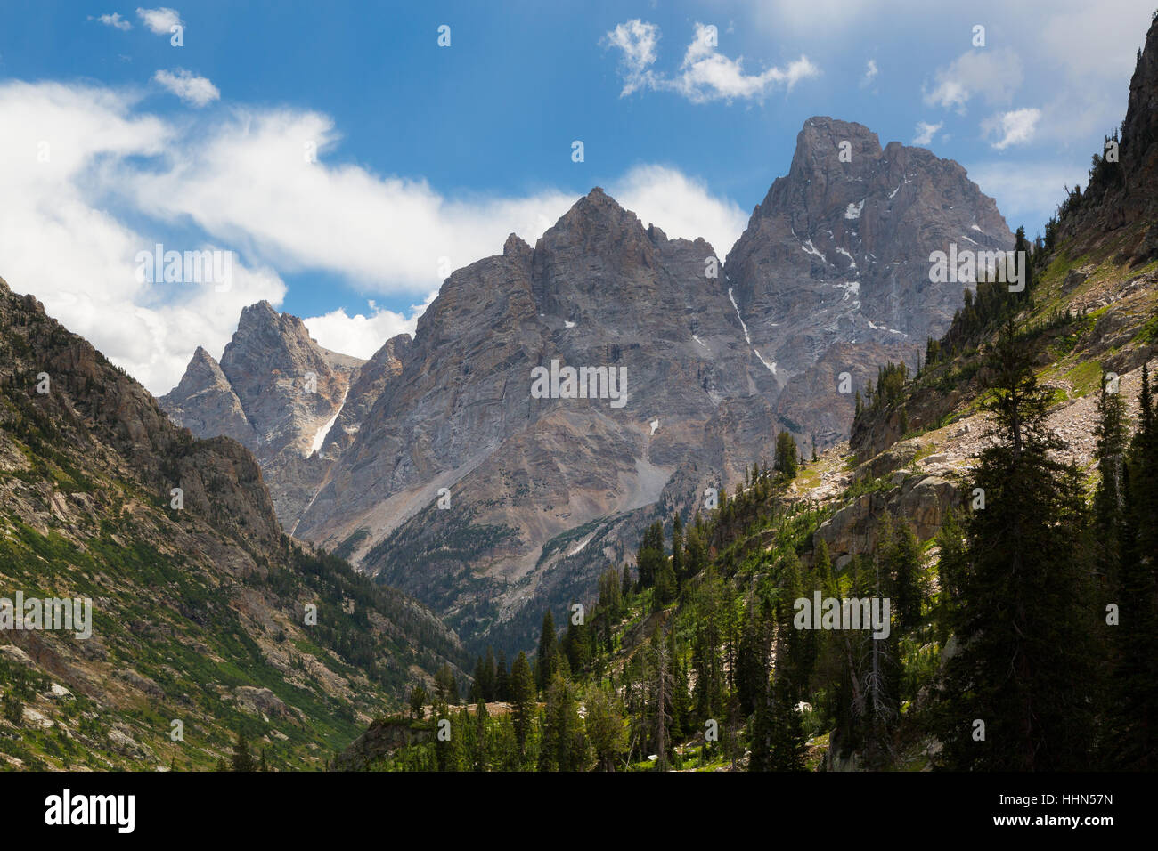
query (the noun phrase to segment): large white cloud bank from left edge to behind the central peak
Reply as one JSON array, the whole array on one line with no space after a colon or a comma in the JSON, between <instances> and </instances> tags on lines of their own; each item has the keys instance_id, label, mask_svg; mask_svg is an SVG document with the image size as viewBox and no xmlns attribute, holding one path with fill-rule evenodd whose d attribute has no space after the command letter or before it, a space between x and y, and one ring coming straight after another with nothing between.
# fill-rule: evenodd
<instances>
[{"instance_id":1,"label":"large white cloud bank from left edge to behind the central peak","mask_svg":"<svg viewBox=\"0 0 1158 851\"><path fill-rule=\"evenodd\" d=\"M441 258L454 270L498 254L512 230L534 244L577 199L555 189L450 199L423 181L327 164L338 137L318 113L236 107L206 126L142 113L139 97L0 83L0 276L155 394L196 346L221 351L242 307L279 306L283 274L321 270L420 299L441 284ZM305 140L321 161L307 161ZM642 166L606 185L645 222L717 251L745 225L734 203L672 168ZM137 252L156 242L235 251L232 288L139 281ZM308 324L328 347L373 353L419 313L335 311Z\"/></svg>"}]
</instances>

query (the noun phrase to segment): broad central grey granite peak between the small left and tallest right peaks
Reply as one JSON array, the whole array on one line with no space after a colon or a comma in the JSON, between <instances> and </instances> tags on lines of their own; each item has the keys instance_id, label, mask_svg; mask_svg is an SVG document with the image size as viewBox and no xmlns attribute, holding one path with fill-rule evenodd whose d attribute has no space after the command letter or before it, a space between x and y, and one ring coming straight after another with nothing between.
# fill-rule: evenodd
<instances>
[{"instance_id":1,"label":"broad central grey granite peak between the small left and tallest right peaks","mask_svg":"<svg viewBox=\"0 0 1158 851\"><path fill-rule=\"evenodd\" d=\"M534 249L512 235L459 270L296 534L346 543L468 636L586 593L635 546L633 522L626 541L613 527L677 470L697 465L669 494L690 506L774 436L771 375L713 258L596 189ZM625 395L536 398L533 371L552 364L622 375Z\"/></svg>"}]
</instances>

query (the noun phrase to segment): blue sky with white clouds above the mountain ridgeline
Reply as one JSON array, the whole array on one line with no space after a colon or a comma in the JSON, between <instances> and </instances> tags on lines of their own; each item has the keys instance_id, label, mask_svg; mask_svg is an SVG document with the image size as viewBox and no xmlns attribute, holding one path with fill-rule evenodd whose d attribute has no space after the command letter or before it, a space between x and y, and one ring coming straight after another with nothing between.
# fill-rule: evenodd
<instances>
[{"instance_id":1,"label":"blue sky with white clouds above the mountain ridgeline","mask_svg":"<svg viewBox=\"0 0 1158 851\"><path fill-rule=\"evenodd\" d=\"M725 256L814 115L957 160L1032 236L1153 2L3 0L0 277L157 395L262 299L368 358L596 185Z\"/></svg>"}]
</instances>

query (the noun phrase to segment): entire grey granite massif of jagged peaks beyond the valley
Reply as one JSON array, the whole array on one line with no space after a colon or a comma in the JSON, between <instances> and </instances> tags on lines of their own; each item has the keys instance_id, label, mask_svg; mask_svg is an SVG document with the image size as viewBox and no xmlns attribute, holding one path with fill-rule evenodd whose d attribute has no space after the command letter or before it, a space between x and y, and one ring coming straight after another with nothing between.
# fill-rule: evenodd
<instances>
[{"instance_id":1,"label":"entire grey granite massif of jagged peaks beyond the valley","mask_svg":"<svg viewBox=\"0 0 1158 851\"><path fill-rule=\"evenodd\" d=\"M415 338L371 361L258 305L220 369L198 352L162 402L203 435L252 430L287 530L468 640L525 646L544 607L630 560L643 526L768 463L778 431L806 453L846 436L852 390L886 360L915 364L960 306L968 284L929 281L951 242L1012 245L960 166L813 118L726 264L595 189L534 248L512 234L454 272ZM536 369L566 367L625 387L533 393Z\"/></svg>"}]
</instances>

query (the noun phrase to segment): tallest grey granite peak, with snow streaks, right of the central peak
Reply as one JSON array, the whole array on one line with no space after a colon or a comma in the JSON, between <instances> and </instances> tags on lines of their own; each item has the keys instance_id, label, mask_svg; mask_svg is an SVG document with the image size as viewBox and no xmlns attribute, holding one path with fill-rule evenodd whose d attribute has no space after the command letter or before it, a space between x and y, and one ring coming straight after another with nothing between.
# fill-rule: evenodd
<instances>
[{"instance_id":1,"label":"tallest grey granite peak, with snow streaks, right of the central peak","mask_svg":"<svg viewBox=\"0 0 1158 851\"><path fill-rule=\"evenodd\" d=\"M916 362L968 284L933 284L932 251L1007 250L1013 235L961 166L833 118L805 122L792 166L727 256L753 346L774 364L776 413L820 445L848 435L853 389L886 360ZM856 344L856 345L851 345Z\"/></svg>"}]
</instances>

